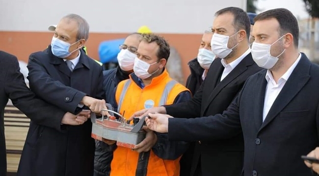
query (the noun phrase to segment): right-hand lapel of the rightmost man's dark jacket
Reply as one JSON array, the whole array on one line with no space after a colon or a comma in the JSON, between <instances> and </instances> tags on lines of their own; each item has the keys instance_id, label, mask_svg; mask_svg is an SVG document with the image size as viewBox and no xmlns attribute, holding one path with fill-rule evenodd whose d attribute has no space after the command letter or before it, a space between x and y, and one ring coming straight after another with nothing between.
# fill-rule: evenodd
<instances>
[{"instance_id":1,"label":"right-hand lapel of the rightmost man's dark jacket","mask_svg":"<svg viewBox=\"0 0 319 176\"><path fill-rule=\"evenodd\" d=\"M259 131L265 128L276 116L283 110L289 102L292 101L293 97L305 86L310 78L309 69L311 63L308 58L302 54L302 57L297 66L292 71L292 74L288 78L285 86L278 94L276 100L272 104L264 123L262 124ZM266 91L266 90L265 90Z\"/></svg>"}]
</instances>

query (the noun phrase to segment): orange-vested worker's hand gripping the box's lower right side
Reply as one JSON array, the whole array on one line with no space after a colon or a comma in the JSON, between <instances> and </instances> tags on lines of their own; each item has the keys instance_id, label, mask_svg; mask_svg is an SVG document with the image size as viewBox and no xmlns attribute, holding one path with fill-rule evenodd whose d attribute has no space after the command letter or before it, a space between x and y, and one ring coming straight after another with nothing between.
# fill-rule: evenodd
<instances>
[{"instance_id":1,"label":"orange-vested worker's hand gripping the box's lower right side","mask_svg":"<svg viewBox=\"0 0 319 176\"><path fill-rule=\"evenodd\" d=\"M145 139L135 145L133 149L138 153L150 151L157 141L157 135L153 131L149 130L146 126L143 126L143 130L146 131Z\"/></svg>"}]
</instances>

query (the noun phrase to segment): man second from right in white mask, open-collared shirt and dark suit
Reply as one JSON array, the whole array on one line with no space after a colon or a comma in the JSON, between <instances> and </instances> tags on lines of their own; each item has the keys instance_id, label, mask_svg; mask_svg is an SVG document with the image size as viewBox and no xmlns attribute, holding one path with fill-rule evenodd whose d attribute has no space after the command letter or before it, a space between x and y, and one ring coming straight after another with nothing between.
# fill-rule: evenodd
<instances>
[{"instance_id":1,"label":"man second from right in white mask, open-collared shirt and dark suit","mask_svg":"<svg viewBox=\"0 0 319 176\"><path fill-rule=\"evenodd\" d=\"M134 115L166 111L174 117L195 118L221 113L235 99L246 79L261 69L251 57L248 45L250 22L246 12L237 7L228 7L217 11L215 17L211 48L217 58L210 66L205 65L209 66L207 76L193 99ZM193 159L189 161L190 174L183 176L239 176L243 150L241 133L227 140L197 140ZM230 161L231 164L225 164Z\"/></svg>"}]
</instances>

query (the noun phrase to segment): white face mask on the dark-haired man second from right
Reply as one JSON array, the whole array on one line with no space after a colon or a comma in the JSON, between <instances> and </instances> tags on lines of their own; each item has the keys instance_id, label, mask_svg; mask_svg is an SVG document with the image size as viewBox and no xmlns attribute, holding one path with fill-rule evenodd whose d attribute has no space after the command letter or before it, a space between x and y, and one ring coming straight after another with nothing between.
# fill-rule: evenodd
<instances>
[{"instance_id":1,"label":"white face mask on the dark-haired man second from right","mask_svg":"<svg viewBox=\"0 0 319 176\"><path fill-rule=\"evenodd\" d=\"M239 33L239 31L236 32L235 34L237 34L237 33ZM235 34L233 34L232 36L225 36L225 35L220 35L220 34L216 34L216 33L213 34L213 37L212 37L212 40L211 40L211 46L212 46L213 53L217 57L219 57L221 59L224 59L238 45L238 44L236 44L231 49L228 48L229 38L233 37Z\"/></svg>"}]
</instances>

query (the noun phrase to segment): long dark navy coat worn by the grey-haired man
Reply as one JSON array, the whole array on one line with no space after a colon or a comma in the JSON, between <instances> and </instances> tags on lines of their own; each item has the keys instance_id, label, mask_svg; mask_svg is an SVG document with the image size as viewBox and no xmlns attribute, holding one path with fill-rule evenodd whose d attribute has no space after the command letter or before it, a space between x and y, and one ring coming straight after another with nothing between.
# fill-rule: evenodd
<instances>
[{"instance_id":1,"label":"long dark navy coat worn by the grey-haired man","mask_svg":"<svg viewBox=\"0 0 319 176\"><path fill-rule=\"evenodd\" d=\"M31 90L61 110L78 113L84 95L105 99L102 67L80 50L73 72L51 46L30 55L28 79ZM31 119L17 176L93 176L95 143L92 123L62 125L57 131Z\"/></svg>"}]
</instances>

